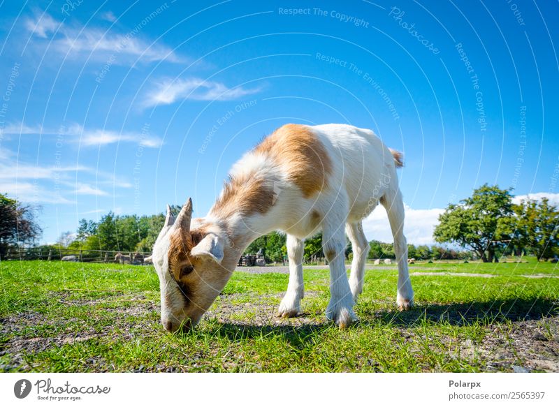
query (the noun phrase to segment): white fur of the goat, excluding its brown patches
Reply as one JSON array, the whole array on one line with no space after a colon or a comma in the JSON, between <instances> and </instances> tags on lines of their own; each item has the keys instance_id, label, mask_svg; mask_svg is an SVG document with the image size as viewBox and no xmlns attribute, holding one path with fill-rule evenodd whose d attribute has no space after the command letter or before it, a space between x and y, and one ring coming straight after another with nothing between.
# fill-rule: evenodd
<instances>
[{"instance_id":1,"label":"white fur of the goat, excluding its brown patches","mask_svg":"<svg viewBox=\"0 0 559 407\"><path fill-rule=\"evenodd\" d=\"M413 290L407 269L407 244L402 232L404 206L391 151L367 129L345 124L310 126L310 129L319 137L332 163L331 175L326 179L326 186L318 194L305 198L300 189L289 182L285 168L275 165L272 159L264 154L252 151L245 154L233 165L231 175L257 172L260 177L266 179L268 186L273 186L275 200L265 214L242 216L235 213L228 219L220 219L219 212L210 209L203 221L218 225L222 230L219 232L218 228L215 231L210 246L223 248L224 251L223 260L219 260L213 267L219 266L230 274L235 269L242 251L252 240L273 230L284 230L288 235L290 274L287 292L279 306L278 314L295 316L300 312L300 299L303 298L303 239L321 230L323 249L330 264L331 276L331 300L326 309L326 316L340 327L344 327L356 320L353 306L363 290L363 273L369 244L363 234L361 221L381 202L389 214L398 260L397 302L400 308L407 309L413 302ZM289 151L286 151L286 154L289 154ZM319 214L318 221L316 216L312 216L313 212ZM195 224L196 219L193 219L191 229ZM349 281L344 265L344 229L354 248ZM160 280L168 281L164 264L166 253L163 253L168 249L168 237L163 230L160 238L161 242L158 238L156 246L161 246L161 250L154 248L154 264L161 267L158 269ZM219 239L226 242L220 243ZM206 243L208 246L210 242ZM159 260L159 263L156 260ZM210 273L206 275L205 278L210 281ZM162 290L166 287L164 281L161 281ZM220 290L219 286L226 283L226 280L224 281L213 284L214 290ZM163 293L161 299L164 299ZM168 313L177 318L175 311ZM163 312L162 309L162 314Z\"/></svg>"}]
</instances>

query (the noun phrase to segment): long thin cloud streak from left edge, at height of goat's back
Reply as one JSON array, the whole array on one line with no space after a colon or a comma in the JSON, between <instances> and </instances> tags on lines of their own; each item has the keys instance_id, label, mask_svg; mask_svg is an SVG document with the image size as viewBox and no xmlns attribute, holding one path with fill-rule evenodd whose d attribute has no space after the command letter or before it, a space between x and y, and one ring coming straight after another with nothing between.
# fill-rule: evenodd
<instances>
[{"instance_id":1,"label":"long thin cloud streak from left edge, at height of goat's back","mask_svg":"<svg viewBox=\"0 0 559 407\"><path fill-rule=\"evenodd\" d=\"M130 131L112 131L101 128L83 128L79 124L61 126L58 130L43 128L42 126L28 126L27 124L8 124L3 131L6 135L67 135L74 138L74 142L80 142L82 146L110 145L116 142L135 142L138 145L149 148L159 148L163 145L161 138Z\"/></svg>"}]
</instances>

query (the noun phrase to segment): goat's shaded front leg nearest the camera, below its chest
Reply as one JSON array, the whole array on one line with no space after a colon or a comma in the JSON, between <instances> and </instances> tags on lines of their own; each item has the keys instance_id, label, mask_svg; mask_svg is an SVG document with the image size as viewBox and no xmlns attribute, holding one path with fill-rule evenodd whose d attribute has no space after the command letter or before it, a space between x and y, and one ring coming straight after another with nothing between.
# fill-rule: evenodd
<instances>
[{"instance_id":1,"label":"goat's shaded front leg nearest the camera, below its chest","mask_svg":"<svg viewBox=\"0 0 559 407\"><path fill-rule=\"evenodd\" d=\"M326 318L344 329L357 320L357 317L354 313L354 297L345 272L345 234L342 225L343 223L324 225L322 249L330 264L330 302L326 308Z\"/></svg>"}]
</instances>

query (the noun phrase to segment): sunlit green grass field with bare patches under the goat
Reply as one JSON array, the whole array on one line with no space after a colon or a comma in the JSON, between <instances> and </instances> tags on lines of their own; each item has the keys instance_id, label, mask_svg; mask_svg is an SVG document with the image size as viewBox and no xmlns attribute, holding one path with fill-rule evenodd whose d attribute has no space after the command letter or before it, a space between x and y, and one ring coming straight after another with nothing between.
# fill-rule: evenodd
<instances>
[{"instance_id":1,"label":"sunlit green grass field with bare patches under the goat","mask_svg":"<svg viewBox=\"0 0 559 407\"><path fill-rule=\"evenodd\" d=\"M344 331L324 317L327 270L305 270L303 315L289 320L274 317L286 274L235 272L196 330L167 334L152 267L0 262L0 370L559 371L556 265L413 272L416 306L400 313L395 267L371 266L360 322Z\"/></svg>"}]
</instances>

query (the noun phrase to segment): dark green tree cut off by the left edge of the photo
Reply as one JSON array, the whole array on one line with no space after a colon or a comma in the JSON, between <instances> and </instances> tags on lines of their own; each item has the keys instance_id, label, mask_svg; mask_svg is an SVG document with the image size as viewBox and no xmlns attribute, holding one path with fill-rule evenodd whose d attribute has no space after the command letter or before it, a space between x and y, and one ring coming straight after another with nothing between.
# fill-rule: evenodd
<instances>
[{"instance_id":1,"label":"dark green tree cut off by the left edge of the photo","mask_svg":"<svg viewBox=\"0 0 559 407\"><path fill-rule=\"evenodd\" d=\"M0 193L0 258L11 246L34 242L41 235L35 219L37 209Z\"/></svg>"}]
</instances>

